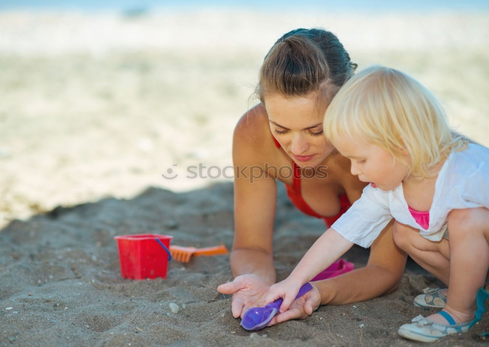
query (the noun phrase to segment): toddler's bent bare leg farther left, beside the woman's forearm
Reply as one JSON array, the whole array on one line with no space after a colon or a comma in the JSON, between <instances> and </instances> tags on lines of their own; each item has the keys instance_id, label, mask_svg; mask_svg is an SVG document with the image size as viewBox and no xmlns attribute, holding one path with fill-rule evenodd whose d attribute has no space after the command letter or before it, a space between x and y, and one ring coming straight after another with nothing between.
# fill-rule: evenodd
<instances>
[{"instance_id":1,"label":"toddler's bent bare leg farther left, beside the woman's forearm","mask_svg":"<svg viewBox=\"0 0 489 347\"><path fill-rule=\"evenodd\" d=\"M448 286L450 250L448 240L434 242L420 235L419 229L399 222L394 223L394 242L414 261Z\"/></svg>"}]
</instances>

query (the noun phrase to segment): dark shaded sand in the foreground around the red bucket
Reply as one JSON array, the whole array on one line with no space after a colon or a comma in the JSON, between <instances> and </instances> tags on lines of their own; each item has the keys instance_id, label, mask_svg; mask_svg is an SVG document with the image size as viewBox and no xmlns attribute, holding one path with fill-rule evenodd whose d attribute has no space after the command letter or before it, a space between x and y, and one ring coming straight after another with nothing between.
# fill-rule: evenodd
<instances>
[{"instance_id":1,"label":"dark shaded sand in the foreground around the red bucket","mask_svg":"<svg viewBox=\"0 0 489 347\"><path fill-rule=\"evenodd\" d=\"M412 300L439 283L412 263L393 294L322 306L256 333L239 326L230 299L215 289L231 279L228 255L172 260L166 279L121 278L114 235L156 232L173 235L173 244L229 247L232 201L227 183L179 194L149 188L130 200L12 222L0 233L0 346L416 346L397 328L429 313ZM275 258L284 278L322 229L290 205L283 188L278 208ZM367 256L358 247L345 257L359 267ZM486 343L466 334L436 346Z\"/></svg>"}]
</instances>

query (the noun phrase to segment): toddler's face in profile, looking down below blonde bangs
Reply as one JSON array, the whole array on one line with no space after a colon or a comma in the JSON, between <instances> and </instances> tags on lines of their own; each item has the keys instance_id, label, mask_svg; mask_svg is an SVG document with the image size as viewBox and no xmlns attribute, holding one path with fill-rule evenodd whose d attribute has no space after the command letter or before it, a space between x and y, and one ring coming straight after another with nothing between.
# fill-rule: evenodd
<instances>
[{"instance_id":1,"label":"toddler's face in profile, looking down below blonde bangs","mask_svg":"<svg viewBox=\"0 0 489 347\"><path fill-rule=\"evenodd\" d=\"M336 149L352 162L352 175L362 182L382 190L396 188L404 180L409 170L391 153L376 144L363 140L354 141L348 135L334 141Z\"/></svg>"}]
</instances>

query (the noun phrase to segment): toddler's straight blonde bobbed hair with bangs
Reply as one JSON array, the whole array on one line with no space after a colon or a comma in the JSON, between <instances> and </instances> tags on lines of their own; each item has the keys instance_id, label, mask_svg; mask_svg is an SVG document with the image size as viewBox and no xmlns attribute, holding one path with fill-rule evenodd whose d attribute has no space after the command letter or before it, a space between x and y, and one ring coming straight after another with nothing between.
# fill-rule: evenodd
<instances>
[{"instance_id":1,"label":"toddler's straight blonde bobbed hair with bangs","mask_svg":"<svg viewBox=\"0 0 489 347\"><path fill-rule=\"evenodd\" d=\"M419 177L433 177L433 165L467 147L465 139L452 136L432 93L407 74L382 66L360 71L341 87L326 110L323 128L333 142L349 136L378 145Z\"/></svg>"}]
</instances>

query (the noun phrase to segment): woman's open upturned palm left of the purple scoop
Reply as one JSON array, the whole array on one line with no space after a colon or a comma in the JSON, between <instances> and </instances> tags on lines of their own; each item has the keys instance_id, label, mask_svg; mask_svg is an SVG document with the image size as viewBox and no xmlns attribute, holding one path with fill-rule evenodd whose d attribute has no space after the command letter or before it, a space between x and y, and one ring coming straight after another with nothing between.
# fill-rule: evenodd
<instances>
[{"instance_id":1,"label":"woman's open upturned palm left of the purple scoop","mask_svg":"<svg viewBox=\"0 0 489 347\"><path fill-rule=\"evenodd\" d=\"M217 290L222 294L232 294L231 312L234 318L243 318L244 312L251 307L262 307L267 304L270 285L257 275L241 275L232 282L221 284Z\"/></svg>"}]
</instances>

